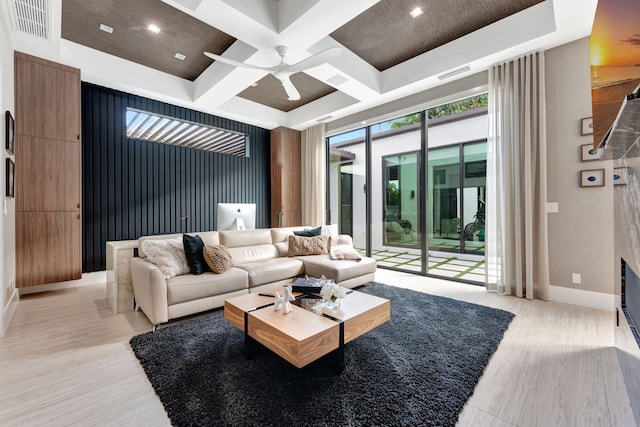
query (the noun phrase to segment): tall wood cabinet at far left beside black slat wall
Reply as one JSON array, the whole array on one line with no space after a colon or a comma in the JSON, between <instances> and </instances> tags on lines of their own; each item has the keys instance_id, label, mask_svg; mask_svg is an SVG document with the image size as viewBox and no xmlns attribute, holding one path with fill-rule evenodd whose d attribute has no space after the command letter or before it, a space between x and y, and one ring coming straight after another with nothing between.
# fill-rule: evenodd
<instances>
[{"instance_id":1,"label":"tall wood cabinet at far left beside black slat wall","mask_svg":"<svg viewBox=\"0 0 640 427\"><path fill-rule=\"evenodd\" d=\"M16 286L82 277L80 70L15 53Z\"/></svg>"}]
</instances>

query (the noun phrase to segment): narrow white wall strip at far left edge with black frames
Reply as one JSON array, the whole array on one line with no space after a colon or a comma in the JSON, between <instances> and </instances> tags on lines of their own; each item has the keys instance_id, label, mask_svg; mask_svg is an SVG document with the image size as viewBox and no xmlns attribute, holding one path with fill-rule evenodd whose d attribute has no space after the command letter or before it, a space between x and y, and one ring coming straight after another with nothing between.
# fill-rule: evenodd
<instances>
[{"instance_id":1,"label":"narrow white wall strip at far left edge with black frames","mask_svg":"<svg viewBox=\"0 0 640 427\"><path fill-rule=\"evenodd\" d=\"M6 121L5 111L14 114L14 77L13 77L13 49L10 45L9 31L4 27L4 20L0 19L0 37L3 41L0 43L0 112L2 113L2 125L0 125L0 135L2 135L2 206L0 206L0 241L3 242L0 247L0 307L2 315L0 316L0 336L3 336L9 326L9 321L13 316L17 302L18 293L15 290L15 203L13 198L5 196L6 188L6 160L5 158L13 156L4 149ZM6 213L4 207L6 206Z\"/></svg>"}]
</instances>

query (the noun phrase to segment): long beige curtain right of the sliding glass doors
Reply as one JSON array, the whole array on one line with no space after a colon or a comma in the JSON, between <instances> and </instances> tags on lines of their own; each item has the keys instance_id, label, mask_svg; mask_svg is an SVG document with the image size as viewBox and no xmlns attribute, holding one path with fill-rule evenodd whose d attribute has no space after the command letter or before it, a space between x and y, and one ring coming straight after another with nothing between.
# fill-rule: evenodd
<instances>
[{"instance_id":1,"label":"long beige curtain right of the sliding glass doors","mask_svg":"<svg viewBox=\"0 0 640 427\"><path fill-rule=\"evenodd\" d=\"M487 288L548 299L544 53L489 70Z\"/></svg>"}]
</instances>

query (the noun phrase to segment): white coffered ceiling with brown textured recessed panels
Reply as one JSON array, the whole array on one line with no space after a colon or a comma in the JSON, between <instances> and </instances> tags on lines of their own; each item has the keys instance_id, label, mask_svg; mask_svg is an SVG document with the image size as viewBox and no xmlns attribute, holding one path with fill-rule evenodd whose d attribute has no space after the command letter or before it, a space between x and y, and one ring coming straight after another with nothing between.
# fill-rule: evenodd
<instances>
[{"instance_id":1,"label":"white coffered ceiling with brown textured recessed panels","mask_svg":"<svg viewBox=\"0 0 640 427\"><path fill-rule=\"evenodd\" d=\"M14 4L44 3L46 36ZM16 50L78 67L82 79L266 128L333 120L587 36L597 0L7 0ZM422 14L410 12L421 8ZM103 26L107 31L101 30ZM148 30L155 25L159 32ZM291 76L289 101L267 71L330 47ZM182 59L176 56L182 57ZM443 76L449 75L448 78ZM327 119L327 117L329 117Z\"/></svg>"}]
</instances>

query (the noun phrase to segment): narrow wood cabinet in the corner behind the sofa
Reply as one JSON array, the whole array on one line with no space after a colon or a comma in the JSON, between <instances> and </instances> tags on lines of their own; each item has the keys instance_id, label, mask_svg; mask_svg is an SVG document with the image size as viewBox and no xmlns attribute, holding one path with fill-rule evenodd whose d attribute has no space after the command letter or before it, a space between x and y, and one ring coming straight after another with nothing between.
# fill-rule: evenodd
<instances>
[{"instance_id":1,"label":"narrow wood cabinet in the corner behind the sofa","mask_svg":"<svg viewBox=\"0 0 640 427\"><path fill-rule=\"evenodd\" d=\"M302 225L301 133L271 131L271 226Z\"/></svg>"}]
</instances>

